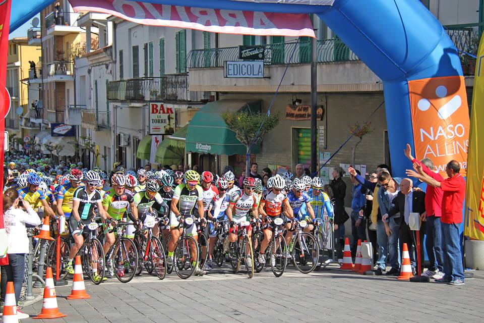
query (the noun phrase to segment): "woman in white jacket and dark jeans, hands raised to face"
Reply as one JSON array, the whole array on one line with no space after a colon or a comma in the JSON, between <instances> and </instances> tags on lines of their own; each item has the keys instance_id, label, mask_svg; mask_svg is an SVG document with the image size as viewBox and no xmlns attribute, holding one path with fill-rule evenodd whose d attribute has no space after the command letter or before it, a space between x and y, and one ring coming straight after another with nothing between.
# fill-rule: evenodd
<instances>
[{"instance_id":1,"label":"woman in white jacket and dark jeans, hands raised to face","mask_svg":"<svg viewBox=\"0 0 484 323\"><path fill-rule=\"evenodd\" d=\"M5 191L3 201L4 224L9 238L9 264L2 266L0 301L3 303L5 300L7 282L14 282L15 299L18 304L24 282L25 254L29 253L29 238L25 225L38 226L41 221L27 201L20 202L17 190Z\"/></svg>"}]
</instances>

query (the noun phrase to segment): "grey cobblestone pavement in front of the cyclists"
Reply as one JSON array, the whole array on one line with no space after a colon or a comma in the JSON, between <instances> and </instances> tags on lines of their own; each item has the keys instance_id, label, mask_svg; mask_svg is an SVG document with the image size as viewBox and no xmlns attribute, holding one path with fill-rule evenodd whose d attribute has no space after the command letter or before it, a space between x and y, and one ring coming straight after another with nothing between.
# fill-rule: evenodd
<instances>
[{"instance_id":1,"label":"grey cobblestone pavement in front of the cyclists","mask_svg":"<svg viewBox=\"0 0 484 323\"><path fill-rule=\"evenodd\" d=\"M330 266L331 267L331 266ZM56 322L482 322L484 274L464 286L410 283L331 270L304 275L288 267L280 278L270 270L248 279L227 266L204 277L160 281L143 274L128 284L108 279L85 282L91 296L66 299L71 287L57 287ZM34 315L42 302L24 307ZM22 322L39 322L32 318Z\"/></svg>"}]
</instances>

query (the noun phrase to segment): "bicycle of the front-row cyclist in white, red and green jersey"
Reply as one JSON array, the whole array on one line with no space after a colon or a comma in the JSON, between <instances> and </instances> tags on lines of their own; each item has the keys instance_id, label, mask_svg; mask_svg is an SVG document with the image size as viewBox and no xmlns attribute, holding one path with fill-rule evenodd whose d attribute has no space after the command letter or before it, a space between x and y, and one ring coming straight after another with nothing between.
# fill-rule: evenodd
<instances>
[{"instance_id":1,"label":"bicycle of the front-row cyclist in white, red and green jersey","mask_svg":"<svg viewBox=\"0 0 484 323\"><path fill-rule=\"evenodd\" d=\"M234 226L237 229L237 240L235 240L235 242L230 242L228 247L228 254L233 273L238 273L240 262L244 261L249 278L254 277L254 252L252 250L252 241L247 234L247 227L251 225L250 221L236 223ZM246 249L247 247L249 247L249 250ZM248 251L250 253L250 258L247 257Z\"/></svg>"}]
</instances>

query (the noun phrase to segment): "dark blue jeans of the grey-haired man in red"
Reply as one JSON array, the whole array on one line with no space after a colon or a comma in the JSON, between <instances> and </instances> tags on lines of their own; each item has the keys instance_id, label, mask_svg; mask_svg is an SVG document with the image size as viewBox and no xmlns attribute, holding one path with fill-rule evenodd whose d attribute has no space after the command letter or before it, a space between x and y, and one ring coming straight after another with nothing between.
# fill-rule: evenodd
<instances>
[{"instance_id":1,"label":"dark blue jeans of the grey-haired man in red","mask_svg":"<svg viewBox=\"0 0 484 323\"><path fill-rule=\"evenodd\" d=\"M425 248L429 256L429 269L431 271L442 271L442 224L440 217L427 217L426 227L427 239L425 240Z\"/></svg>"}]
</instances>

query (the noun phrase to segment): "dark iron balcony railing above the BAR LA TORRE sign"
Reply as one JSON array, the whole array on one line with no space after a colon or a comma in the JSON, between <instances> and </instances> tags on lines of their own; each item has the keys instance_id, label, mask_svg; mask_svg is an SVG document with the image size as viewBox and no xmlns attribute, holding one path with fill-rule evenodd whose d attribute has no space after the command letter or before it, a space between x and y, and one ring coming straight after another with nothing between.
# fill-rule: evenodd
<instances>
[{"instance_id":1,"label":"dark iron balcony railing above the BAR LA TORRE sign","mask_svg":"<svg viewBox=\"0 0 484 323\"><path fill-rule=\"evenodd\" d=\"M188 90L188 74L170 74L109 82L107 98L110 101L200 101L201 92Z\"/></svg>"}]
</instances>

